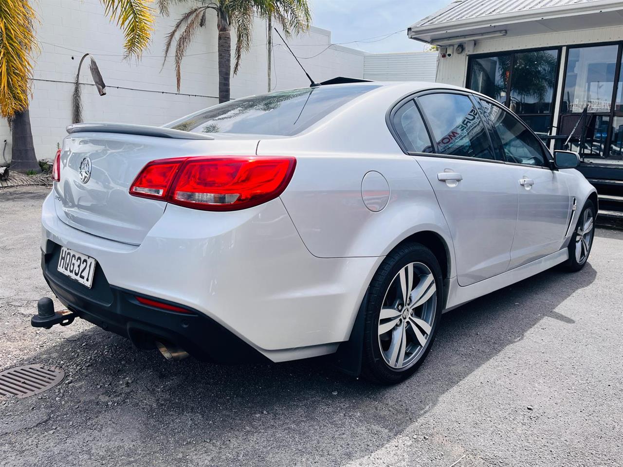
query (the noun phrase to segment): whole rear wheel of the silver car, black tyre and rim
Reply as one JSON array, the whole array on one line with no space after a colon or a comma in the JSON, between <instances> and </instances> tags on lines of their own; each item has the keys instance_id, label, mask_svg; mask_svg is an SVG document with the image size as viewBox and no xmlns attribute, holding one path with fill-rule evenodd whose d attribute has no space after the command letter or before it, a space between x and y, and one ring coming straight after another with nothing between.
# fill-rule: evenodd
<instances>
[{"instance_id":1,"label":"whole rear wheel of the silver car, black tyre and rim","mask_svg":"<svg viewBox=\"0 0 623 467\"><path fill-rule=\"evenodd\" d=\"M389 253L368 288L364 377L396 384L417 370L434 341L443 297L441 268L429 248L406 243Z\"/></svg>"}]
</instances>

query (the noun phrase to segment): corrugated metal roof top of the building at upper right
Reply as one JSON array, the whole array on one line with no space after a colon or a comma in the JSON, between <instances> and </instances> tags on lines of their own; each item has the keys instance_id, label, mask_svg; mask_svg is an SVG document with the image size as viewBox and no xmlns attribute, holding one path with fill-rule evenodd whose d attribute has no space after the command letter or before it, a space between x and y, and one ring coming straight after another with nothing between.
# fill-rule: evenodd
<instances>
[{"instance_id":1,"label":"corrugated metal roof top of the building at upper right","mask_svg":"<svg viewBox=\"0 0 623 467\"><path fill-rule=\"evenodd\" d=\"M448 6L416 22L412 28L480 18L494 14L564 7L594 1L599 0L455 0Z\"/></svg>"}]
</instances>

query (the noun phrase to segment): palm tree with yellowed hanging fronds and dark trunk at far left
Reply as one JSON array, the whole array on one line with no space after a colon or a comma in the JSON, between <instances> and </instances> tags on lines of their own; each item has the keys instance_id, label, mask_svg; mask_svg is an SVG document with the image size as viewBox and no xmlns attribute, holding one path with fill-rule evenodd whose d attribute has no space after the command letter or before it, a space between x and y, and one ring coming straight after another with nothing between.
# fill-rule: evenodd
<instances>
[{"instance_id":1,"label":"palm tree with yellowed hanging fronds and dark trunk at far left","mask_svg":"<svg viewBox=\"0 0 623 467\"><path fill-rule=\"evenodd\" d=\"M153 32L151 0L100 0L105 14L125 37L126 58L140 58ZM11 169L39 171L28 112L30 83L37 50L37 17L28 0L0 1L0 116L13 136Z\"/></svg>"}]
</instances>

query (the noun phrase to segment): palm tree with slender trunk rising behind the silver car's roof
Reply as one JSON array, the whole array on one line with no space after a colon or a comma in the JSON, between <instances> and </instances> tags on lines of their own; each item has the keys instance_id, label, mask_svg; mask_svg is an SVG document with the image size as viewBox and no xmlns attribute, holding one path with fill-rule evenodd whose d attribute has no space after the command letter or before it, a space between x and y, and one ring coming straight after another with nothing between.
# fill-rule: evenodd
<instances>
[{"instance_id":1,"label":"palm tree with slender trunk rising behind the silver car's roof","mask_svg":"<svg viewBox=\"0 0 623 467\"><path fill-rule=\"evenodd\" d=\"M169 14L169 6L181 0L158 0L163 15ZM200 27L206 24L206 13L214 11L216 26L219 31L219 102L229 100L229 78L231 77L231 27L235 29L234 75L240 68L243 52L249 52L254 16L269 21L275 19L286 35L306 31L312 20L307 0L193 0L200 6L194 6L182 16L171 32L166 35L164 62L169 55L171 45L175 46L175 74L179 92L181 82L181 64L188 46ZM179 34L178 34L179 33ZM269 34L272 31L269 30ZM164 66L163 62L163 66Z\"/></svg>"}]
</instances>

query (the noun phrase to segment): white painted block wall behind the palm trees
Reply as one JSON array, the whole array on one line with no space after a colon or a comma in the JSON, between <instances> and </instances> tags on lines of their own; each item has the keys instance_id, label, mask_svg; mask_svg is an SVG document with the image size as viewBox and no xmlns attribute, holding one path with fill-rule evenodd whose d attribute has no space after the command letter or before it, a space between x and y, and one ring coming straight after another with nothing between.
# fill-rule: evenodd
<instances>
[{"instance_id":1,"label":"white painted block wall behind the palm trees","mask_svg":"<svg viewBox=\"0 0 623 467\"><path fill-rule=\"evenodd\" d=\"M39 159L54 157L56 143L65 136L65 126L71 123L73 82L78 62L85 52L92 53L97 60L107 85L107 95L100 97L94 86L82 86L84 121L162 125L218 102L217 29L213 14L208 14L206 27L197 33L189 47L183 62L180 94L177 94L172 60L169 58L161 70L161 57L164 35L186 11L185 7L175 6L168 18L158 17L150 50L137 62L122 59L121 32L103 16L98 0L40 0L32 5L40 18L36 26L40 54L36 58L30 105L32 134ZM244 55L239 73L232 78L232 98L267 90L266 29L264 21L255 20L250 52ZM276 34L273 40L273 89L307 86L307 78ZM315 27L308 34L288 40L299 57L316 55L330 42L330 32ZM361 78L364 55L359 50L335 45L318 57L301 62L316 81L336 76ZM80 82L92 82L88 59L82 65ZM11 134L6 121L2 120L0 144L4 139L8 142L5 158L10 159Z\"/></svg>"}]
</instances>

